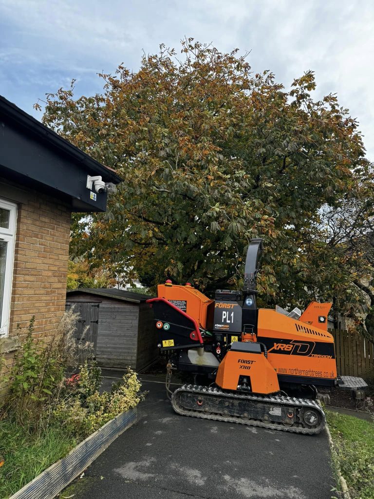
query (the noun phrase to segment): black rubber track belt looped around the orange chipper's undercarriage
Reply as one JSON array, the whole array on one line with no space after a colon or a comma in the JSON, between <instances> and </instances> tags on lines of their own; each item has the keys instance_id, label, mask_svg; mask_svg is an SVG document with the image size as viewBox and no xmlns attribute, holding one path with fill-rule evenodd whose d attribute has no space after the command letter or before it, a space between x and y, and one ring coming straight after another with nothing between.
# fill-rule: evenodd
<instances>
[{"instance_id":1,"label":"black rubber track belt looped around the orange chipper's undercarriage","mask_svg":"<svg viewBox=\"0 0 374 499\"><path fill-rule=\"evenodd\" d=\"M191 411L184 409L178 404L178 394L181 392L188 392L188 393L193 393L193 394L198 394L201 395L202 397L204 395L214 395L214 396L221 396L224 398L231 398L231 399L245 399L245 400L252 400L253 402L261 402L266 403L268 402L269 404L278 404L278 405L287 405L287 406L293 406L296 410L298 409L299 411L297 412L297 417L299 415L299 412L301 409L304 408L309 408L309 409L314 409L317 411L321 416L322 416L322 421L321 424L316 427L316 428L308 428L304 427L301 425L301 423L294 423L292 426L285 426L282 423L271 423L271 422L264 422L264 421L256 421L256 420L245 420L240 418L239 416L222 416L219 414L204 414L201 411ZM248 425L248 426L257 426L261 428L267 428L268 430L277 430L277 431L283 431L283 432L290 432L290 433L301 433L303 435L317 435L320 433L324 428L325 428L325 423L326 423L326 417L325 413L323 412L321 406L317 404L314 400L308 400L308 399L299 399L296 397L284 397L282 395L271 395L271 396L266 396L266 395L253 395L253 394L238 394L235 392L223 392L222 390L218 388L208 388L204 386L197 386L197 385L183 385L181 388L177 388L173 392L172 395L172 406L173 409L176 411L176 413L181 414L182 416L191 416L195 418L200 418L200 419L209 419L209 420L214 420L214 421L225 421L228 423L237 423L237 424L242 424L242 425Z\"/></svg>"}]
</instances>

